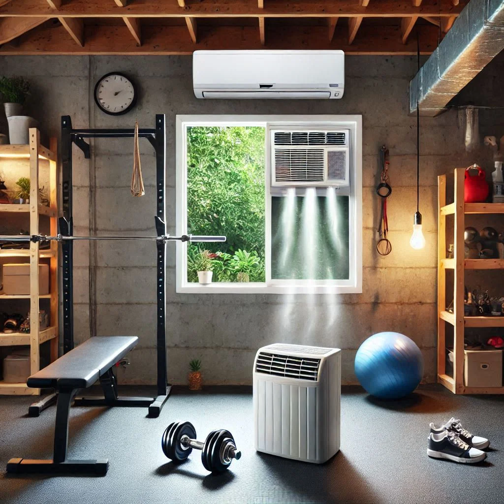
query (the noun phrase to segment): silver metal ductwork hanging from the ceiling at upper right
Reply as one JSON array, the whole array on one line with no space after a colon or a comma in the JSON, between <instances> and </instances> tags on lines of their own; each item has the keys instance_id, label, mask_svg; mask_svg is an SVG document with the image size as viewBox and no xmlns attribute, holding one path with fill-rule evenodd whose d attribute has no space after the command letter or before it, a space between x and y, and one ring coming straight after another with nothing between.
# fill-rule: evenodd
<instances>
[{"instance_id":1,"label":"silver metal ductwork hanging from the ceiling at upper right","mask_svg":"<svg viewBox=\"0 0 504 504\"><path fill-rule=\"evenodd\" d=\"M471 0L410 82L410 113L435 116L504 49L504 0Z\"/></svg>"}]
</instances>

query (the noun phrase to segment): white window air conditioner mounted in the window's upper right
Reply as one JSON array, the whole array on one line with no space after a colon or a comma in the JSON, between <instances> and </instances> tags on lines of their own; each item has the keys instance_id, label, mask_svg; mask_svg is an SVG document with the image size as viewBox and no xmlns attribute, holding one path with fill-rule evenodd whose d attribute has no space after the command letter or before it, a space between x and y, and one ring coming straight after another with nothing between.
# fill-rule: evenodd
<instances>
[{"instance_id":1,"label":"white window air conditioner mounted in the window's upper right","mask_svg":"<svg viewBox=\"0 0 504 504\"><path fill-rule=\"evenodd\" d=\"M350 185L350 131L271 131L272 185Z\"/></svg>"}]
</instances>

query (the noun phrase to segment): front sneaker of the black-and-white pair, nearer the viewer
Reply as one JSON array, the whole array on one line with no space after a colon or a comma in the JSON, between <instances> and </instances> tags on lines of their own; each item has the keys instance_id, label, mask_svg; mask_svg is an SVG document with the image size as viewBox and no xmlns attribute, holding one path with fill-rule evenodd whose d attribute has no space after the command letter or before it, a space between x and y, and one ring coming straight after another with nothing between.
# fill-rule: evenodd
<instances>
[{"instance_id":1,"label":"front sneaker of the black-and-white pair, nearer the viewer","mask_svg":"<svg viewBox=\"0 0 504 504\"><path fill-rule=\"evenodd\" d=\"M486 459L486 453L470 447L453 432L430 432L427 455L434 459L453 460L462 464L476 464Z\"/></svg>"}]
</instances>

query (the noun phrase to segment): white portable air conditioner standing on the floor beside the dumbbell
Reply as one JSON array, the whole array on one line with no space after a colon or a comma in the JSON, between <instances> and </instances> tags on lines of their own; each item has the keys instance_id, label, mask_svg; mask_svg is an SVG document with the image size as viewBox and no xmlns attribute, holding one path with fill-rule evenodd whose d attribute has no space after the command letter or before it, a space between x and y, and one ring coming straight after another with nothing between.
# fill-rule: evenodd
<instances>
[{"instance_id":1,"label":"white portable air conditioner standing on the floor beside the dumbbell","mask_svg":"<svg viewBox=\"0 0 504 504\"><path fill-rule=\"evenodd\" d=\"M258 452L322 464L340 449L341 350L275 343L254 362Z\"/></svg>"}]
</instances>

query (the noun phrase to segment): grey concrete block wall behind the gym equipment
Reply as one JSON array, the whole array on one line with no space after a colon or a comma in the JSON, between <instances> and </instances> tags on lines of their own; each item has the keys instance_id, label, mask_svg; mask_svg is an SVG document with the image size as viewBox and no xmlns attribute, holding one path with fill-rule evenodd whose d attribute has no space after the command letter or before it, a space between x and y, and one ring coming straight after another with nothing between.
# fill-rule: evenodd
<instances>
[{"instance_id":1,"label":"grey concrete block wall behind the gym equipment","mask_svg":"<svg viewBox=\"0 0 504 504\"><path fill-rule=\"evenodd\" d=\"M169 244L169 380L184 383L188 361L201 358L207 383L250 383L257 348L291 342L342 348L343 382L354 382L353 358L360 343L373 333L390 330L407 334L419 345L425 359L424 379L434 381L436 177L455 166L466 166L462 164L466 160L456 111L421 119L420 210L427 246L413 250L408 242L416 210L416 117L407 112L408 83L416 72L414 57L349 56L345 97L327 101L197 100L189 56L11 56L0 57L0 68L7 75L31 80L34 93L29 110L50 135L59 135L62 114L70 114L77 127L133 128L135 119L142 127L153 127L154 115L165 113L169 232L174 231L175 114L362 114L363 293L288 297L176 294L175 249ZM136 108L124 116L100 112L92 99L97 79L111 71L131 75L140 88ZM380 175L377 153L384 144L390 150L393 186L389 201L393 251L385 258L375 251L379 201L374 194ZM133 141L99 140L93 150L90 161L74 150L76 234L87 234L91 226L97 234L152 235L155 166L150 145L146 141L141 145L144 198L133 198L129 189ZM75 245L76 342L88 338L95 324L98 335L140 336L131 366L120 371L122 381L155 382L154 264L151 242L100 242L96 249L86 242Z\"/></svg>"}]
</instances>

